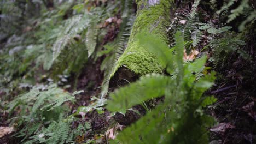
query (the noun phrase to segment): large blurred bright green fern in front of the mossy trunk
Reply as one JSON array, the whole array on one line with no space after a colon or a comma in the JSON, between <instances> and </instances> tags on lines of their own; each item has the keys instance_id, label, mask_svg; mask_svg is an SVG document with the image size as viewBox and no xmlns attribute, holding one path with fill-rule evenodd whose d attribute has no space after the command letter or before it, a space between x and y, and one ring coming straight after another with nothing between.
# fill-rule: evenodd
<instances>
[{"instance_id":1,"label":"large blurred bright green fern in front of the mossy trunk","mask_svg":"<svg viewBox=\"0 0 256 144\"><path fill-rule=\"evenodd\" d=\"M177 32L175 38L176 46L168 49L159 38L148 33L138 36L141 45L158 56L161 65L171 76L149 74L110 94L107 109L113 112L165 95L163 103L121 132L115 142L207 143L206 128L214 120L203 113L203 107L216 99L202 95L213 85L214 73L196 80L194 74L202 73L206 56L184 64L181 32Z\"/></svg>"}]
</instances>

